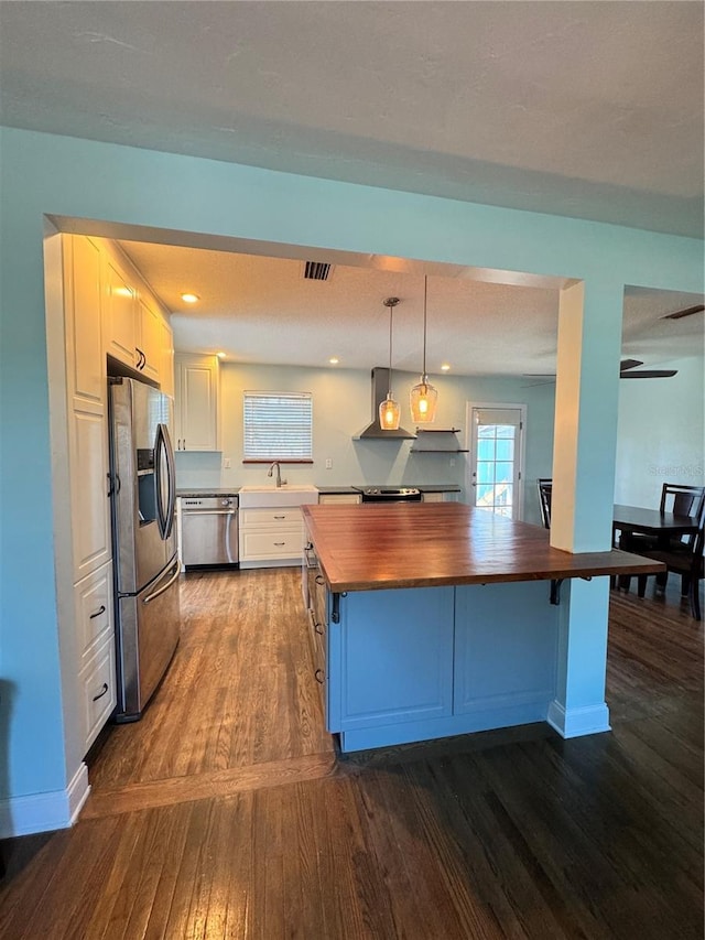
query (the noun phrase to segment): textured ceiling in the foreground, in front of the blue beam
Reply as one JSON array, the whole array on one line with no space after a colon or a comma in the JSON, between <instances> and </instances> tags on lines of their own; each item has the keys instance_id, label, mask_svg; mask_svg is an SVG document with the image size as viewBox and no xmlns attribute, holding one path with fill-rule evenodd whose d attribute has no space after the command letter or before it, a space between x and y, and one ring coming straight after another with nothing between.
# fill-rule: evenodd
<instances>
[{"instance_id":1,"label":"textured ceiling in the foreground, in front of the blue beam","mask_svg":"<svg viewBox=\"0 0 705 940\"><path fill-rule=\"evenodd\" d=\"M702 231L702 2L2 2L2 122Z\"/></svg>"}]
</instances>

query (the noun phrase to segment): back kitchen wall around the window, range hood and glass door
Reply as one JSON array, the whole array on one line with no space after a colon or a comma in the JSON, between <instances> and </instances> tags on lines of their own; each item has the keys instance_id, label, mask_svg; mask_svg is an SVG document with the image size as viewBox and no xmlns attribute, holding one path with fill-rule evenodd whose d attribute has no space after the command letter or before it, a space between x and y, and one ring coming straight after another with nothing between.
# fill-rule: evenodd
<instances>
[{"instance_id":1,"label":"back kitchen wall around the window, range hood and glass door","mask_svg":"<svg viewBox=\"0 0 705 940\"><path fill-rule=\"evenodd\" d=\"M362 484L421 485L465 484L467 454L413 454L413 441L354 441L372 418L370 372L350 369L303 369L286 366L241 366L225 364L220 369L221 443L217 454L176 454L180 487L242 486L264 483L262 464L242 464L242 392L313 392L314 462L283 465L290 483L317 486ZM394 397L402 409L401 424L414 431L409 411L409 391L419 380L411 372L393 372ZM539 522L534 480L550 476L553 453L554 386L528 387L525 381L506 378L433 376L438 389L435 428L459 428L458 446L466 441L465 408L470 401L524 402L527 415L527 497L524 517ZM231 468L223 467L225 460ZM325 468L326 460L333 466ZM463 494L463 498L465 495Z\"/></svg>"}]
</instances>

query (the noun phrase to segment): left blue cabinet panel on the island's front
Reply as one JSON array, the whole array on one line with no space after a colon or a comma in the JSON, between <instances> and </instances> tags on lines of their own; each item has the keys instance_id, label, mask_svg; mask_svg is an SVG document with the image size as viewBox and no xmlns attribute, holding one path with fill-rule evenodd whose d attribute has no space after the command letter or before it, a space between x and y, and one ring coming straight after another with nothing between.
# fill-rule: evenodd
<instances>
[{"instance_id":1,"label":"left blue cabinet panel on the island's front","mask_svg":"<svg viewBox=\"0 0 705 940\"><path fill-rule=\"evenodd\" d=\"M328 626L328 730L399 725L453 710L453 587L355 592Z\"/></svg>"}]
</instances>

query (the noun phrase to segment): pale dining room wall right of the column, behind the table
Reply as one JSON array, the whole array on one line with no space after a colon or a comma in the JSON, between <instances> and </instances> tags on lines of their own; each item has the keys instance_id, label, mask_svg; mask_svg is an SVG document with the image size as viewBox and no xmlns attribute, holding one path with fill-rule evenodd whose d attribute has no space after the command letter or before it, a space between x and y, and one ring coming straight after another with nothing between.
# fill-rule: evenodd
<instances>
[{"instance_id":1,"label":"pale dining room wall right of the column, behind the table","mask_svg":"<svg viewBox=\"0 0 705 940\"><path fill-rule=\"evenodd\" d=\"M620 382L615 503L655 509L663 483L705 484L703 356L665 366L677 375Z\"/></svg>"}]
</instances>

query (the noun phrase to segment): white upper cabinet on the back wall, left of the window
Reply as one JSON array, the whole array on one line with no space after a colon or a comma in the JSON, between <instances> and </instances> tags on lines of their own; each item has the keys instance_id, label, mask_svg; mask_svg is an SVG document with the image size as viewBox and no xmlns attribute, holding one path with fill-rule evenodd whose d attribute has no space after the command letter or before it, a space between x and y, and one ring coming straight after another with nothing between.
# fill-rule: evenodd
<instances>
[{"instance_id":1,"label":"white upper cabinet on the back wall, left of the window","mask_svg":"<svg viewBox=\"0 0 705 940\"><path fill-rule=\"evenodd\" d=\"M177 451L218 451L219 369L216 356L176 356L174 364Z\"/></svg>"}]
</instances>

